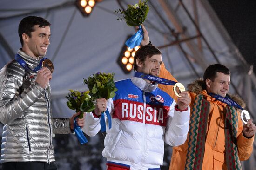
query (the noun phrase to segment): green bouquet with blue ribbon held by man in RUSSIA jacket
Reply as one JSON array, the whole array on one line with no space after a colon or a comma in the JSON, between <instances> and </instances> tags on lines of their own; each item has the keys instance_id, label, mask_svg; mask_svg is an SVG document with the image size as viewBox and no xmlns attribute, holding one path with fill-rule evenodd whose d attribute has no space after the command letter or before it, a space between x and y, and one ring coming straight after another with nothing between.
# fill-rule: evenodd
<instances>
[{"instance_id":1,"label":"green bouquet with blue ribbon held by man in RUSSIA jacket","mask_svg":"<svg viewBox=\"0 0 256 170\"><path fill-rule=\"evenodd\" d=\"M91 77L87 79L84 78L84 84L88 85L90 90L90 96L95 101L97 98L113 98L115 96L115 92L117 88L115 88L114 83L114 73L101 73L98 72L93 74ZM111 117L108 109L106 110L106 116L108 118L108 128L111 128ZM106 131L106 123L104 112L101 113L101 132Z\"/></svg>"}]
</instances>

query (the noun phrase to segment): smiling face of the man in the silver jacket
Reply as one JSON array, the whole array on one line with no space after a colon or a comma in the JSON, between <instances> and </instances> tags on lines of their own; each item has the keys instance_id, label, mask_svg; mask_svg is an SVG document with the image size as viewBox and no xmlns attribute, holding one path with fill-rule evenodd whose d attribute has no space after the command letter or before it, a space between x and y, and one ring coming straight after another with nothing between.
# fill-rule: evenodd
<instances>
[{"instance_id":1,"label":"smiling face of the man in the silver jacket","mask_svg":"<svg viewBox=\"0 0 256 170\"><path fill-rule=\"evenodd\" d=\"M51 30L50 26L38 27L34 26L33 32L31 32L31 37L24 41L26 43L25 52L34 58L39 56L45 56L47 48L50 44ZM23 48L22 48L23 49Z\"/></svg>"}]
</instances>

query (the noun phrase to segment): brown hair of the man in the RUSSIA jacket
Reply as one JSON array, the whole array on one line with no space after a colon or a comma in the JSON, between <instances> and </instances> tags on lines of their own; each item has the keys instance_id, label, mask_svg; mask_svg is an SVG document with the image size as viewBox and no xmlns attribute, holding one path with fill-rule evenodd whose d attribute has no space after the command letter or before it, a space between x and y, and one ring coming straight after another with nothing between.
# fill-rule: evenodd
<instances>
[{"instance_id":1,"label":"brown hair of the man in the RUSSIA jacket","mask_svg":"<svg viewBox=\"0 0 256 170\"><path fill-rule=\"evenodd\" d=\"M150 58L153 55L157 55L157 54L162 54L162 52L156 48L155 46L142 46L141 48L138 49L138 51L136 51L135 55L134 55L134 63L133 63L133 70L138 69L138 65L136 64L136 59L140 59L141 62L144 62L146 60L146 58Z\"/></svg>"}]
</instances>

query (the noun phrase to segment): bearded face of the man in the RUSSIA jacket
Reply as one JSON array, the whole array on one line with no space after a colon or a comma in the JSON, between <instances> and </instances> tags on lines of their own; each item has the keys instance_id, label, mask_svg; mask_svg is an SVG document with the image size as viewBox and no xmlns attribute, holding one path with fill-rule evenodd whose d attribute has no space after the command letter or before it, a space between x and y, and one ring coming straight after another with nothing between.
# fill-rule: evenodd
<instances>
[{"instance_id":1,"label":"bearded face of the man in the RUSSIA jacket","mask_svg":"<svg viewBox=\"0 0 256 170\"><path fill-rule=\"evenodd\" d=\"M138 64L137 64L138 65ZM138 72L158 76L160 72L160 65L162 65L162 55L156 54L150 58L146 58L144 63L138 65Z\"/></svg>"}]
</instances>

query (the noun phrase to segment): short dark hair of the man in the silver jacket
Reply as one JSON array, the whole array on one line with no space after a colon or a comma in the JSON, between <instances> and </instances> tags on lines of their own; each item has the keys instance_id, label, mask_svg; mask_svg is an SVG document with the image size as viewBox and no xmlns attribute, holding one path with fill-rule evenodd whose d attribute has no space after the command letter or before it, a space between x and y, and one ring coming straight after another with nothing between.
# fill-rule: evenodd
<instances>
[{"instance_id":1,"label":"short dark hair of the man in the silver jacket","mask_svg":"<svg viewBox=\"0 0 256 170\"><path fill-rule=\"evenodd\" d=\"M42 17L28 16L23 18L20 21L18 30L21 46L23 46L22 34L26 33L29 37L31 37L31 32L35 31L35 25L38 25L38 27L41 28L45 26L50 26L51 24Z\"/></svg>"}]
</instances>

